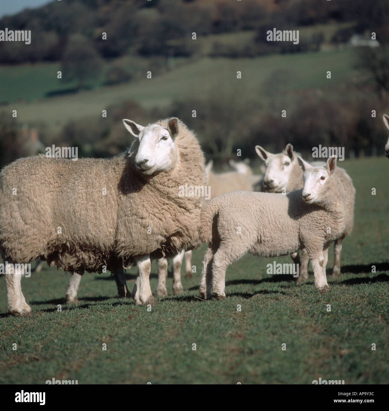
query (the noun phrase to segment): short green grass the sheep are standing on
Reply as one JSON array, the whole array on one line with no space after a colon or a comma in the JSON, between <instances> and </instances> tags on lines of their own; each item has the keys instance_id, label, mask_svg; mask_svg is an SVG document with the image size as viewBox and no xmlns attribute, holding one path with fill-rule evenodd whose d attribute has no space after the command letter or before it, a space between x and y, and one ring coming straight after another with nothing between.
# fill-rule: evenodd
<instances>
[{"instance_id":1,"label":"short green grass the sheep are standing on","mask_svg":"<svg viewBox=\"0 0 389 411\"><path fill-rule=\"evenodd\" d=\"M312 272L298 286L266 274L274 259L247 255L228 268L226 300L202 301L203 245L193 253L197 273L183 279L185 294L163 298L151 312L116 298L114 281L98 274L84 275L78 305L57 312L69 274L47 268L22 280L33 316L7 316L5 284L0 287L0 383L41 384L53 377L79 384L311 384L319 377L388 383L389 205L382 175L389 162L381 157L341 165L357 189L355 225L343 243L338 281L330 276L331 247L330 293L317 293ZM127 278L132 289L135 269ZM156 282L153 264L151 289ZM167 283L171 290L172 279Z\"/></svg>"}]
</instances>

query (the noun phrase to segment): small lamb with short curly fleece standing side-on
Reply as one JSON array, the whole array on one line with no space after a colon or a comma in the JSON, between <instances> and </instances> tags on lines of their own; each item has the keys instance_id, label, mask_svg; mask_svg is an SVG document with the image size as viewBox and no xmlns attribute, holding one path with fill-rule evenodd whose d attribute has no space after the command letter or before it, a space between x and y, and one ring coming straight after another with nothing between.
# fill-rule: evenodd
<instances>
[{"instance_id":1,"label":"small lamb with short curly fleece standing side-on","mask_svg":"<svg viewBox=\"0 0 389 411\"><path fill-rule=\"evenodd\" d=\"M289 194L239 191L207 203L200 217L200 240L209 242L203 260L200 295L225 298L228 265L247 252L274 257L305 248L315 286L329 291L328 245L345 230L345 194L334 174L336 157L314 167L298 157L304 186ZM212 286L212 288L211 288Z\"/></svg>"}]
</instances>

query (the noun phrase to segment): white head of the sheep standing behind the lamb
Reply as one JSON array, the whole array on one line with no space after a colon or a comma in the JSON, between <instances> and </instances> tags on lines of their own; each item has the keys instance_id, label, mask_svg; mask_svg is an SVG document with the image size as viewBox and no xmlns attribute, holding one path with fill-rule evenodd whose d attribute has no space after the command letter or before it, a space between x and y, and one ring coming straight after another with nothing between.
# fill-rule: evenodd
<instances>
[{"instance_id":1,"label":"white head of the sheep standing behind the lamb","mask_svg":"<svg viewBox=\"0 0 389 411\"><path fill-rule=\"evenodd\" d=\"M255 146L255 151L263 159L266 172L263 177L263 189L269 193L280 193L289 181L293 164L297 162L297 156L293 152L293 145L287 144L280 154L271 154L260 145Z\"/></svg>"}]
</instances>

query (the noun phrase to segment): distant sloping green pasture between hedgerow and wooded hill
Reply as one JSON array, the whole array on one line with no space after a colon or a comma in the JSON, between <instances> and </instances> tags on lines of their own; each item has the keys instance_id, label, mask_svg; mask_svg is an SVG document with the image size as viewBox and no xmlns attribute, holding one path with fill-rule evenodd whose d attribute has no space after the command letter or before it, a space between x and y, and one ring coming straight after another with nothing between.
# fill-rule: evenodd
<instances>
[{"instance_id":1,"label":"distant sloping green pasture between hedgerow and wooded hill","mask_svg":"<svg viewBox=\"0 0 389 411\"><path fill-rule=\"evenodd\" d=\"M153 66L151 62L144 69L142 81L51 98L39 97L42 97L44 90L58 88L59 80L54 76L57 65L42 65L34 69L19 67L19 75L15 77L11 76L14 69L6 67L0 71L0 82L7 84L5 90L2 90L1 100L14 101L16 97L29 99L33 98L34 92L37 93L37 99L31 102L13 102L2 109L16 109L21 123L46 122L50 130L58 131L69 120L93 115L100 117L107 106L126 99L139 102L145 107L163 108L174 99L201 98L228 87L233 90L233 98L238 104L240 99L261 99L261 88L276 70L290 72L285 91L331 88L347 83L356 73L353 69L353 53L352 49L347 48L326 53L294 53L235 60L200 58L188 64L179 60L179 67L163 74L160 74L159 65ZM151 79L146 79L147 70L152 72ZM326 79L327 70L331 70L331 80ZM242 79L236 78L237 71L242 72ZM45 82L47 88L43 86Z\"/></svg>"}]
</instances>

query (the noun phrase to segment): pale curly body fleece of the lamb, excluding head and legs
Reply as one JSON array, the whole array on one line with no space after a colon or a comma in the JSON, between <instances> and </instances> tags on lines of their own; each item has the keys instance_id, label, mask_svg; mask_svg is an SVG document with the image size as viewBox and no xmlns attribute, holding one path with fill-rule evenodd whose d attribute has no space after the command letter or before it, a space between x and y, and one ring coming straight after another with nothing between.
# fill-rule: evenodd
<instances>
[{"instance_id":1,"label":"pale curly body fleece of the lamb, excluding head and legs","mask_svg":"<svg viewBox=\"0 0 389 411\"><path fill-rule=\"evenodd\" d=\"M339 183L335 185L341 192ZM287 195L240 191L212 199L203 208L200 239L225 250L230 263L247 252L274 257L305 247L314 253L344 229L342 195L328 193L326 208L322 208L305 203L302 189Z\"/></svg>"}]
</instances>

